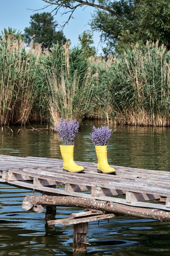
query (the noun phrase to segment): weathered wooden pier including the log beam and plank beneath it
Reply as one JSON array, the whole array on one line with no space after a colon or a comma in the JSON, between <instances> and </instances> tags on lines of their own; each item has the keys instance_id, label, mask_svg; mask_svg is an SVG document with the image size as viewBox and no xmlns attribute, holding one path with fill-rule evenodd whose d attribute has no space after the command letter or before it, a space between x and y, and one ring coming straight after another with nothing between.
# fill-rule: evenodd
<instances>
[{"instance_id":1,"label":"weathered wooden pier including the log beam and plank beneath it","mask_svg":"<svg viewBox=\"0 0 170 256\"><path fill-rule=\"evenodd\" d=\"M170 220L170 172L113 166L116 175L109 175L97 173L96 163L76 162L84 166L84 173L69 173L62 171L62 163L60 159L0 155L0 183L41 192L26 196L22 207L27 210L78 206L102 211L93 218L90 214L91 220L118 215ZM69 218L67 224L63 220L63 225L91 221L89 216L83 220L83 213L79 217ZM48 224L60 221L48 220Z\"/></svg>"}]
</instances>

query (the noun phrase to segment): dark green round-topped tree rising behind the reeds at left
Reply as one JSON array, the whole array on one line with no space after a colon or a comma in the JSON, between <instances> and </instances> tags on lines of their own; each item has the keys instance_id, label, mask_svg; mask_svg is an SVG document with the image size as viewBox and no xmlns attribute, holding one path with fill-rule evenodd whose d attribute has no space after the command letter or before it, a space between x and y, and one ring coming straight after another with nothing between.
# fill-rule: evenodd
<instances>
[{"instance_id":1,"label":"dark green round-topped tree rising behind the reeds at left","mask_svg":"<svg viewBox=\"0 0 170 256\"><path fill-rule=\"evenodd\" d=\"M30 27L24 29L26 43L33 40L34 43L42 44L42 49L51 48L53 43L66 43L67 39L62 31L56 31L57 22L51 13L35 13L30 16Z\"/></svg>"}]
</instances>

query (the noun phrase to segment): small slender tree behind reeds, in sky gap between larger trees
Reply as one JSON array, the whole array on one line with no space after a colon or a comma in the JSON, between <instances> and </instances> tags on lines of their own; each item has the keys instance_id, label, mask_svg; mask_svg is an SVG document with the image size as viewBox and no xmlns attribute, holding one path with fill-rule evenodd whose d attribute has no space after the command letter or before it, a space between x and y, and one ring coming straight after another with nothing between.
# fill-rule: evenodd
<instances>
[{"instance_id":1,"label":"small slender tree behind reeds, in sky gap between larger trees","mask_svg":"<svg viewBox=\"0 0 170 256\"><path fill-rule=\"evenodd\" d=\"M96 49L95 46L91 46L93 42L93 35L88 34L85 31L83 32L82 35L79 35L78 39L81 43L82 49L84 52L86 52L87 57L95 56L96 54Z\"/></svg>"}]
</instances>

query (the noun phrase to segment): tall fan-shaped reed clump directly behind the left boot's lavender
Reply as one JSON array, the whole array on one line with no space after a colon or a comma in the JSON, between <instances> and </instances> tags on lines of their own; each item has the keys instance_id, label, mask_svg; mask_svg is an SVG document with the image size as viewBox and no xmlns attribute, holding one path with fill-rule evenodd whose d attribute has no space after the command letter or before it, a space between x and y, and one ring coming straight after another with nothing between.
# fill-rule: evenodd
<instances>
[{"instance_id":1,"label":"tall fan-shaped reed clump directly behind the left boot's lavender","mask_svg":"<svg viewBox=\"0 0 170 256\"><path fill-rule=\"evenodd\" d=\"M60 117L81 121L93 91L86 57L78 48L70 50L67 42L56 45L45 61L47 99L53 121L58 122Z\"/></svg>"}]
</instances>

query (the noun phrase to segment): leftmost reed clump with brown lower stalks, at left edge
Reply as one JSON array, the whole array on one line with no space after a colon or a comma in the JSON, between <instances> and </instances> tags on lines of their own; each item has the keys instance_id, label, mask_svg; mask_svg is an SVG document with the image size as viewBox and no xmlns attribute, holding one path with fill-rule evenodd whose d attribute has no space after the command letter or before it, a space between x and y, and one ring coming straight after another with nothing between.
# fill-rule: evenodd
<instances>
[{"instance_id":1,"label":"leftmost reed clump with brown lower stalks, at left edge","mask_svg":"<svg viewBox=\"0 0 170 256\"><path fill-rule=\"evenodd\" d=\"M0 123L26 124L34 100L33 55L18 40L0 42Z\"/></svg>"}]
</instances>

